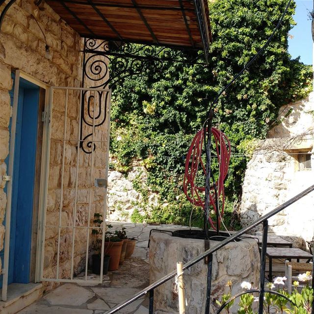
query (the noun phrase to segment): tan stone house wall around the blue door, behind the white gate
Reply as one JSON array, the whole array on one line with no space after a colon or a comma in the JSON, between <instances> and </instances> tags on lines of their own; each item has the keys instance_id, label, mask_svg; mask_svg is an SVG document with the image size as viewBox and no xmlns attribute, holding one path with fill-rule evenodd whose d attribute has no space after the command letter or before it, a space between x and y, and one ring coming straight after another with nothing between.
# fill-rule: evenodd
<instances>
[{"instance_id":1,"label":"tan stone house wall around the blue door, behind the white gate","mask_svg":"<svg viewBox=\"0 0 314 314\"><path fill-rule=\"evenodd\" d=\"M3 8L3 7L2 7ZM1 9L2 9L1 8ZM37 22L36 22L37 21ZM40 26L40 27L39 27ZM45 38L50 47L51 57L45 58ZM10 96L13 80L11 73L15 69L26 72L51 86L80 87L82 78L82 40L44 1L38 6L33 0L17 0L7 11L0 33L0 177L7 174L4 162L9 154L9 120ZM92 85L89 85L92 86ZM47 224L58 225L61 200L61 165L63 157L63 125L64 125L64 90L54 91L52 111L52 141L50 152L50 176L47 201ZM91 189L93 179L104 178L107 152L107 127L104 124L95 132L96 151L84 154L78 149L79 94L69 92L67 130L64 156L63 206L61 225L71 226L75 207L76 164L78 166L77 226L87 226L86 208L91 198L91 216L95 210L104 209L104 189ZM90 127L84 127L87 134ZM92 177L90 168L93 164ZM6 182L0 181L0 250L3 249L6 194ZM85 230L85 229L84 229ZM60 278L70 278L72 228L62 228L60 242ZM45 239L44 276L55 277L57 255L57 228L47 228ZM86 230L76 230L74 269L83 267L82 260L86 254ZM0 264L1 270L1 264ZM52 287L52 285L50 285Z\"/></svg>"}]
</instances>

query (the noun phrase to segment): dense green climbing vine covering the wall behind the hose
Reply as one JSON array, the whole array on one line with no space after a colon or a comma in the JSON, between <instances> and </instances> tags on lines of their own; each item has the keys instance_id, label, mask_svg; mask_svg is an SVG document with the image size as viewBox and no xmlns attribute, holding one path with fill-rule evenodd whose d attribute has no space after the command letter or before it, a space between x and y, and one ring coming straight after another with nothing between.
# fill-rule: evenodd
<instances>
[{"instance_id":1,"label":"dense green climbing vine covering the wall behind the hose","mask_svg":"<svg viewBox=\"0 0 314 314\"><path fill-rule=\"evenodd\" d=\"M146 71L126 78L112 96L110 150L124 172L134 159L148 171L147 186L160 206L145 216L158 222L188 223L191 205L182 191L185 155L202 127L210 102L262 47L287 0L209 2L213 42L208 67L168 63L162 73ZM288 31L295 3L273 41L256 62L220 98L214 126L232 143L226 179L227 209L241 197L241 183L258 139L280 123L280 106L308 95L312 70L288 54ZM213 161L215 163L215 161ZM166 206L164 205L166 204ZM192 220L200 224L201 212ZM133 219L138 220L138 219Z\"/></svg>"}]
</instances>

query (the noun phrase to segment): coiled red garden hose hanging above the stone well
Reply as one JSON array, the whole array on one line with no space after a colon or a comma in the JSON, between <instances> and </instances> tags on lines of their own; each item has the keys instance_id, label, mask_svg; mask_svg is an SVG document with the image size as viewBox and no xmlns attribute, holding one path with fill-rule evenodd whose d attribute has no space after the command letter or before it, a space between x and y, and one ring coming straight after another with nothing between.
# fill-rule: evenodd
<instances>
[{"instance_id":1,"label":"coiled red garden hose hanging above the stone well","mask_svg":"<svg viewBox=\"0 0 314 314\"><path fill-rule=\"evenodd\" d=\"M207 131L207 130L206 130ZM224 192L224 180L228 173L228 166L230 160L230 141L228 137L216 128L211 128L211 133L214 138L214 143L216 146L216 153L218 158L219 166L219 177L216 182L218 200L220 200L220 195L222 195L222 204L220 207L220 216L223 216L224 206L225 206L225 192ZM183 180L183 191L187 199L195 206L200 206L205 210L204 195L205 187L197 186L195 184L195 179L199 171L199 167L203 169L204 175L206 175L205 165L202 160L202 151L204 143L204 129L197 132L193 138L192 144L188 150L185 161L185 173ZM214 193L214 186L210 186L209 202L213 207L214 212L217 214L216 199ZM217 215L218 216L218 215ZM211 227L216 230L216 226L220 226L220 220L218 219L216 226L209 216L209 223Z\"/></svg>"}]
</instances>

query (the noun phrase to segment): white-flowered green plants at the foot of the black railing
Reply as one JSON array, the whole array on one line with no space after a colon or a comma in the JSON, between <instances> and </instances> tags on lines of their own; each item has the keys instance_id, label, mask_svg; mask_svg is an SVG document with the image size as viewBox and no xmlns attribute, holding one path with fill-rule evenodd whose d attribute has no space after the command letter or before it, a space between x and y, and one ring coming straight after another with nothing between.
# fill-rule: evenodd
<instances>
[{"instance_id":1,"label":"white-flowered green plants at the foot of the black railing","mask_svg":"<svg viewBox=\"0 0 314 314\"><path fill-rule=\"evenodd\" d=\"M274 283L268 283L266 290L269 292L264 293L263 301L263 313L287 313L287 314L312 314L312 303L314 302L313 289L309 287L309 281L312 279L311 273L308 271L304 274L298 275L298 281L293 282L293 291L291 294L287 292L285 287L286 277L276 277ZM304 283L304 287L299 292L299 282ZM232 313L231 308L235 303L236 296L232 296L232 282L228 281L229 287L228 293L224 294L221 298L221 302L216 303L224 308L225 313ZM277 287L277 289L276 289ZM254 302L259 302L259 297L254 297L254 293L258 293L259 290L252 289L252 285L249 282L242 282L241 288L244 289L243 293L239 296L237 314L257 314L254 311L256 306ZM277 294L280 293L280 294ZM223 313L223 312L221 312ZM314 313L313 313L314 314Z\"/></svg>"}]
</instances>

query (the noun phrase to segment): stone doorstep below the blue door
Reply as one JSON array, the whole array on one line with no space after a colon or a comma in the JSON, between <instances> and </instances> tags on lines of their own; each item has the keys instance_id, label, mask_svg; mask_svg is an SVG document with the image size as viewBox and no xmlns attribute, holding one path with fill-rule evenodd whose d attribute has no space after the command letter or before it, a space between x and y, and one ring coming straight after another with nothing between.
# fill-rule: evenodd
<instances>
[{"instance_id":1,"label":"stone doorstep below the blue door","mask_svg":"<svg viewBox=\"0 0 314 314\"><path fill-rule=\"evenodd\" d=\"M0 290L0 294L1 294ZM11 284L8 286L7 300L0 301L1 314L15 314L32 304L43 295L43 284Z\"/></svg>"}]
</instances>

